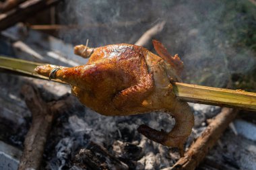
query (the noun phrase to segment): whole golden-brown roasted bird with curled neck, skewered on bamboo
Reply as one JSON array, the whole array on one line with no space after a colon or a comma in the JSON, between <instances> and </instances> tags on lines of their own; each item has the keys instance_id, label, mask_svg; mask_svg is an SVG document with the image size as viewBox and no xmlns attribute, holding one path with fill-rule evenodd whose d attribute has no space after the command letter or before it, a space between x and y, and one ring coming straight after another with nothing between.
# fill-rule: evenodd
<instances>
[{"instance_id":1,"label":"whole golden-brown roasted bird with curled neck, skewered on bamboo","mask_svg":"<svg viewBox=\"0 0 256 170\"><path fill-rule=\"evenodd\" d=\"M154 40L160 56L146 48L131 44L114 44L99 48L75 46L75 54L90 56L86 65L62 67L56 78L69 83L73 94L84 105L106 116L127 116L152 111L164 111L175 118L170 132L153 130L141 125L138 130L151 140L166 146L179 147L191 134L194 124L189 105L178 101L172 92L172 81L180 81L183 62L179 56L168 54L164 46ZM44 65L36 72L49 76L56 66Z\"/></svg>"}]
</instances>

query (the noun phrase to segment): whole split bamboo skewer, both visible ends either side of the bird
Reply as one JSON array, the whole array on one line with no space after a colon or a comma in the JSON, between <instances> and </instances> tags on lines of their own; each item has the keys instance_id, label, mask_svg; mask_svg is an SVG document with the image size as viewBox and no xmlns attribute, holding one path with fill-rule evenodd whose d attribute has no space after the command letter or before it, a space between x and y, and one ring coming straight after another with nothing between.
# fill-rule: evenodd
<instances>
[{"instance_id":1,"label":"whole split bamboo skewer, both visible ends either side of the bird","mask_svg":"<svg viewBox=\"0 0 256 170\"><path fill-rule=\"evenodd\" d=\"M38 65L45 64L0 56L0 69L38 79L49 79L49 77L44 77L34 72L34 69ZM54 81L63 83L59 80ZM177 95L177 99L182 101L256 111L256 93L177 82L172 85L174 87L173 91L175 95Z\"/></svg>"}]
</instances>

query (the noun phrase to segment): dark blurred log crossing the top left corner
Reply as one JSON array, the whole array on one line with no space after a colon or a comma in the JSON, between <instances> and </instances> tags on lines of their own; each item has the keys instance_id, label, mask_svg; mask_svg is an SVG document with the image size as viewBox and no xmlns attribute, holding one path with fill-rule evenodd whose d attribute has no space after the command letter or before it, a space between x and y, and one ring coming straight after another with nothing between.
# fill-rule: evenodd
<instances>
[{"instance_id":1,"label":"dark blurred log crossing the top left corner","mask_svg":"<svg viewBox=\"0 0 256 170\"><path fill-rule=\"evenodd\" d=\"M20 4L16 9L0 15L0 31L22 22L28 17L47 7L59 3L61 0L28 0Z\"/></svg>"}]
</instances>

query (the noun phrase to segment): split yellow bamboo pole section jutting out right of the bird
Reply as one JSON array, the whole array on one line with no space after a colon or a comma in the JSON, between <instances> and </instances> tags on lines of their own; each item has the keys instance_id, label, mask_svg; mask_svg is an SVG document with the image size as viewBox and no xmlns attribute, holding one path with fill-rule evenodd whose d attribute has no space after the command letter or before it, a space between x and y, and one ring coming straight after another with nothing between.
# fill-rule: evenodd
<instances>
[{"instance_id":1,"label":"split yellow bamboo pole section jutting out right of the bird","mask_svg":"<svg viewBox=\"0 0 256 170\"><path fill-rule=\"evenodd\" d=\"M173 83L173 87L182 101L256 111L256 93L186 83Z\"/></svg>"}]
</instances>

